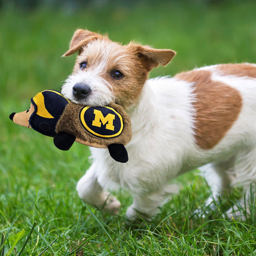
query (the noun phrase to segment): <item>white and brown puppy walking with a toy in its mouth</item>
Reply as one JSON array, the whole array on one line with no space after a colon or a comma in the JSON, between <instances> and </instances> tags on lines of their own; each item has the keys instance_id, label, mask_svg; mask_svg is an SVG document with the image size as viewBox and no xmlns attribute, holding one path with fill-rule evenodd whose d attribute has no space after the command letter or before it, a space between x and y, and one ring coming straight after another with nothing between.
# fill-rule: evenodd
<instances>
[{"instance_id":1,"label":"white and brown puppy walking with a toy in its mouth","mask_svg":"<svg viewBox=\"0 0 256 256\"><path fill-rule=\"evenodd\" d=\"M256 181L256 65L204 66L149 79L153 68L173 59L173 50L121 45L82 29L63 56L74 53L62 94L78 104L120 104L132 123L127 163L91 148L92 165L77 184L83 201L117 214L120 202L108 191L122 188L133 197L127 219L150 219L176 191L168 182L199 167L212 190L208 204L231 186L242 186L250 199Z\"/></svg>"}]
</instances>

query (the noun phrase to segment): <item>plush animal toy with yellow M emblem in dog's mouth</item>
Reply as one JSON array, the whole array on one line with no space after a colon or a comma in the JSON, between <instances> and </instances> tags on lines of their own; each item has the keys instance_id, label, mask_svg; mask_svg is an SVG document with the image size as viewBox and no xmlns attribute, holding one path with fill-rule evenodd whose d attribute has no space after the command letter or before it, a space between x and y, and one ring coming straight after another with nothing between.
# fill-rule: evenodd
<instances>
[{"instance_id":1,"label":"plush animal toy with yellow M emblem in dog's mouth","mask_svg":"<svg viewBox=\"0 0 256 256\"><path fill-rule=\"evenodd\" d=\"M39 92L31 98L30 108L12 113L10 119L46 136L54 137L58 149L69 150L74 141L91 147L107 148L118 162L127 162L124 147L132 138L129 115L123 107L82 106L54 90Z\"/></svg>"}]
</instances>

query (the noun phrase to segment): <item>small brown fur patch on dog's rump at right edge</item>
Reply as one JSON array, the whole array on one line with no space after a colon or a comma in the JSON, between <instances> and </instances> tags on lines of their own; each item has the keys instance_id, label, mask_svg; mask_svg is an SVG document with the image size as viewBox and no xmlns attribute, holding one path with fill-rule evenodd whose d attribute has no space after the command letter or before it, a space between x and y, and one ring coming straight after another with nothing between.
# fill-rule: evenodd
<instances>
[{"instance_id":1,"label":"small brown fur patch on dog's rump at right edge","mask_svg":"<svg viewBox=\"0 0 256 256\"><path fill-rule=\"evenodd\" d=\"M217 66L217 70L221 71L222 75L256 78L256 65L254 66L247 63L222 64Z\"/></svg>"}]
</instances>

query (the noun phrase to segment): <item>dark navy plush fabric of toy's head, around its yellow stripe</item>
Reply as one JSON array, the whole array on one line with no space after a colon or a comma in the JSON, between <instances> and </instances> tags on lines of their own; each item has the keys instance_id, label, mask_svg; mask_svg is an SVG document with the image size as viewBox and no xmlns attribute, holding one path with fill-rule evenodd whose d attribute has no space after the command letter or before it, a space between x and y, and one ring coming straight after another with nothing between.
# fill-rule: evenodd
<instances>
[{"instance_id":1,"label":"dark navy plush fabric of toy's head, around its yellow stripe","mask_svg":"<svg viewBox=\"0 0 256 256\"><path fill-rule=\"evenodd\" d=\"M31 98L31 103L34 106L34 113L30 117L30 126L43 135L53 137L56 135L55 127L57 121L60 119L66 104L68 104L68 100L60 95L60 92L58 91L46 90L40 93L43 95L43 106L37 106L33 98ZM46 111L54 118L46 118L38 115L38 107L45 107Z\"/></svg>"}]
</instances>

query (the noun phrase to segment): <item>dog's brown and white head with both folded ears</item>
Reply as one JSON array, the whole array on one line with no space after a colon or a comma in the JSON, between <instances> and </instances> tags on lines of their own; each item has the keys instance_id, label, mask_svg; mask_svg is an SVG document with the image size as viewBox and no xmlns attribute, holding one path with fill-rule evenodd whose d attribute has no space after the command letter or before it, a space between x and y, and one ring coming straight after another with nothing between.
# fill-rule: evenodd
<instances>
[{"instance_id":1,"label":"dog's brown and white head with both folded ears","mask_svg":"<svg viewBox=\"0 0 256 256\"><path fill-rule=\"evenodd\" d=\"M62 94L75 103L105 106L115 102L127 108L136 103L149 72L165 66L172 50L158 50L136 43L121 45L88 30L77 30L69 50L78 52L74 70L62 87Z\"/></svg>"}]
</instances>

